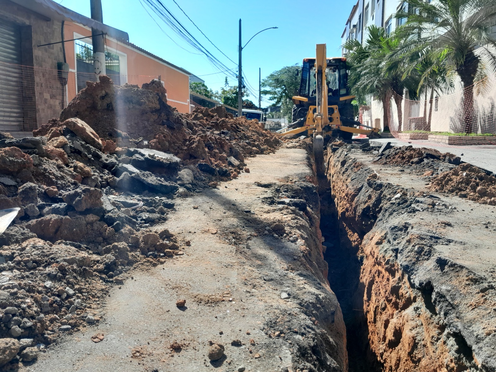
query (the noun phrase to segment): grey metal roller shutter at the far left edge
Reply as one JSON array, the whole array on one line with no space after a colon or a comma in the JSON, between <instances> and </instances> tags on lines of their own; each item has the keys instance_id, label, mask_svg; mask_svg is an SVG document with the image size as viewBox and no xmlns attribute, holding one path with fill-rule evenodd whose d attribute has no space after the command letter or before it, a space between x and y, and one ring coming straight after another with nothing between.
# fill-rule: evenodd
<instances>
[{"instance_id":1,"label":"grey metal roller shutter at the far left edge","mask_svg":"<svg viewBox=\"0 0 496 372\"><path fill-rule=\"evenodd\" d=\"M23 128L21 61L20 27L0 20L0 130Z\"/></svg>"}]
</instances>

